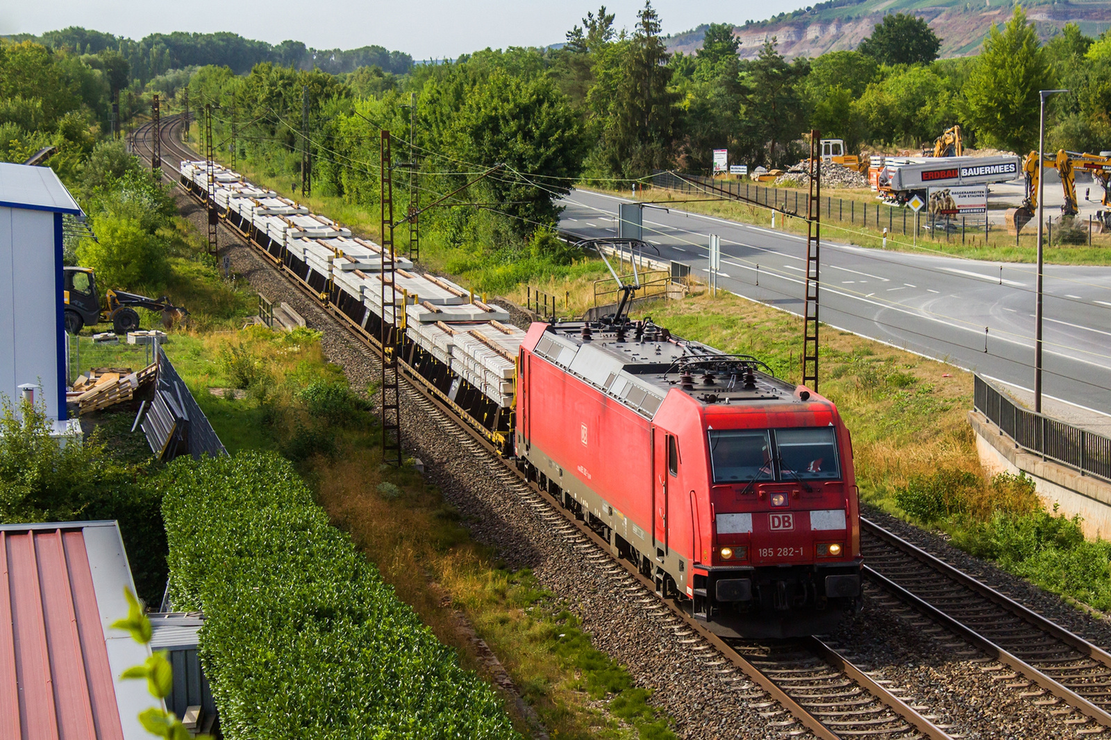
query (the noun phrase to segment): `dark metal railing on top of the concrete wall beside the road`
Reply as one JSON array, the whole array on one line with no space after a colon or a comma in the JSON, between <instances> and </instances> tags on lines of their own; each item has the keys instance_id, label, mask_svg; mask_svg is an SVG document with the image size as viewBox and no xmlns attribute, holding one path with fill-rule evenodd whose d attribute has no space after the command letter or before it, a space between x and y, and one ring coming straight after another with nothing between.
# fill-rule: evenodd
<instances>
[{"instance_id":1,"label":"dark metal railing on top of the concrete wall beside the road","mask_svg":"<svg viewBox=\"0 0 1111 740\"><path fill-rule=\"evenodd\" d=\"M1021 408L982 377L974 377L973 406L1014 444L1081 475L1111 481L1111 438Z\"/></svg>"}]
</instances>

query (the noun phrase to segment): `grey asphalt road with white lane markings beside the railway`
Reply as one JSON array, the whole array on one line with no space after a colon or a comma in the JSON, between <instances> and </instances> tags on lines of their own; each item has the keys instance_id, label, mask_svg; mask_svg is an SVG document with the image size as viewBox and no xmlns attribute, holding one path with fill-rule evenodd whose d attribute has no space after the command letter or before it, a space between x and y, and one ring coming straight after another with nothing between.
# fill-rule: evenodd
<instances>
[{"instance_id":1,"label":"grey asphalt road with white lane markings beside the railway","mask_svg":"<svg viewBox=\"0 0 1111 740\"><path fill-rule=\"evenodd\" d=\"M617 234L619 199L575 190L560 226ZM720 288L801 314L805 237L697 213L645 209L659 259L707 277L708 235L721 237ZM645 254L654 257L654 254ZM824 237L822 323L944 359L1019 388L1033 387L1033 265L867 250ZM1111 267L1048 265L1045 396L1111 415Z\"/></svg>"}]
</instances>

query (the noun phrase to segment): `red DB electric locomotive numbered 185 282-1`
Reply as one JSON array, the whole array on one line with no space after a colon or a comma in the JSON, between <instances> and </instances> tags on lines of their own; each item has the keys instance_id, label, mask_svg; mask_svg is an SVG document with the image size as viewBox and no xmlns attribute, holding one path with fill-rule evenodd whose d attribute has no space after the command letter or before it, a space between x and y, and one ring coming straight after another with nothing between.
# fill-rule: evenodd
<instances>
[{"instance_id":1,"label":"red DB electric locomotive numbered 185 282-1","mask_svg":"<svg viewBox=\"0 0 1111 740\"><path fill-rule=\"evenodd\" d=\"M724 636L823 632L860 608L832 403L651 321L534 323L520 363L520 464L660 594Z\"/></svg>"}]
</instances>

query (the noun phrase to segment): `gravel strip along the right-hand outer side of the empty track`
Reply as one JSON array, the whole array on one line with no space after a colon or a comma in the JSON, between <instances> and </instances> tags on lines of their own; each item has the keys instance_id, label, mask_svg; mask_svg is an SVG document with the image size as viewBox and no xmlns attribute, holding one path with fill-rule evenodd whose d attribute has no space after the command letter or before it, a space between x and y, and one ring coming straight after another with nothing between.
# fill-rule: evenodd
<instances>
[{"instance_id":1,"label":"gravel strip along the right-hand outer side of the empty track","mask_svg":"<svg viewBox=\"0 0 1111 740\"><path fill-rule=\"evenodd\" d=\"M930 555L960 568L973 578L1005 594L1022 606L1083 637L1104 650L1111 650L1111 617L1065 601L1030 581L951 545L940 534L927 531L878 509L862 508L862 514L884 529L902 537Z\"/></svg>"}]
</instances>

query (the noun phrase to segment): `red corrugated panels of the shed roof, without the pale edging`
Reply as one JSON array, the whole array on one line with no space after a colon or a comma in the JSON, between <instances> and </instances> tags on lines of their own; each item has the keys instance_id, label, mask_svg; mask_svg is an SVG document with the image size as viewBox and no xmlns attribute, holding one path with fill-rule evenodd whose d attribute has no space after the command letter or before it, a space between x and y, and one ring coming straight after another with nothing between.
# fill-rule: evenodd
<instances>
[{"instance_id":1,"label":"red corrugated panels of the shed roof, without the pale edging","mask_svg":"<svg viewBox=\"0 0 1111 740\"><path fill-rule=\"evenodd\" d=\"M101 624L80 525L0 530L0 738L123 740Z\"/></svg>"}]
</instances>

